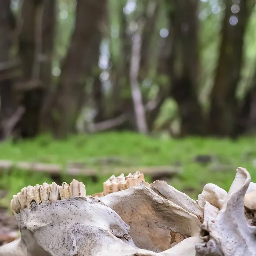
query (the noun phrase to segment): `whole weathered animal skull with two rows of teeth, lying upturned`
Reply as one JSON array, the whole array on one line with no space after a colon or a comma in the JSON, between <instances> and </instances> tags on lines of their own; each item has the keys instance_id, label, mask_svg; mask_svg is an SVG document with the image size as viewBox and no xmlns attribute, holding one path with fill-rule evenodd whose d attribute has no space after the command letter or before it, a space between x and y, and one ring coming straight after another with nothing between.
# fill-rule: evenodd
<instances>
[{"instance_id":1,"label":"whole weathered animal skull with two rows of teeth, lying upturned","mask_svg":"<svg viewBox=\"0 0 256 256\"><path fill-rule=\"evenodd\" d=\"M256 227L244 214L256 186L246 169L228 193L207 184L197 202L138 172L103 187L94 197L77 180L22 189L11 202L21 237L0 256L256 256Z\"/></svg>"}]
</instances>

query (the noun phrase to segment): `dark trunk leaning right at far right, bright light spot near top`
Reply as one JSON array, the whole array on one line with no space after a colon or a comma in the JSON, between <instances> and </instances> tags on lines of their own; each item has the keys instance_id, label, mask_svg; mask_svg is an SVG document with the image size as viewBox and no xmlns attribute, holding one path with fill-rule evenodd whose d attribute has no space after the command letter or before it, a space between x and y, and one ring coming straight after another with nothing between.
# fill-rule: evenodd
<instances>
[{"instance_id":1,"label":"dark trunk leaning right at far right, bright light spot near top","mask_svg":"<svg viewBox=\"0 0 256 256\"><path fill-rule=\"evenodd\" d=\"M233 14L233 1L226 0L218 66L210 95L209 131L216 136L234 136L236 132L236 89L240 79L244 32L248 20L247 2L240 1L239 12Z\"/></svg>"}]
</instances>

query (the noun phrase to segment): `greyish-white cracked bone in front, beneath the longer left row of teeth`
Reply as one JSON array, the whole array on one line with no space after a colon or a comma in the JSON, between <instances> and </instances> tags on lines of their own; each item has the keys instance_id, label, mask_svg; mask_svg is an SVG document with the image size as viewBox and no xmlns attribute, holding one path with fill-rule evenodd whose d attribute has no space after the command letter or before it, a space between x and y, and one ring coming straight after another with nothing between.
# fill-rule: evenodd
<instances>
[{"instance_id":1,"label":"greyish-white cracked bone in front, beneath the longer left row of teeth","mask_svg":"<svg viewBox=\"0 0 256 256\"><path fill-rule=\"evenodd\" d=\"M21 238L0 247L0 256L194 256L201 241L190 237L162 253L140 249L119 215L90 196L32 202L15 217Z\"/></svg>"}]
</instances>

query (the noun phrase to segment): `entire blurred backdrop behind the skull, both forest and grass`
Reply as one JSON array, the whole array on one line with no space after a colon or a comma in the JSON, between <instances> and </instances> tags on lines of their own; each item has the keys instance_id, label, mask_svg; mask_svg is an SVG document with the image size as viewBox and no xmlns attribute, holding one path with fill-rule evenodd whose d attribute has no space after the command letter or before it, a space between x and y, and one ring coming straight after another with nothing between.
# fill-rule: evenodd
<instances>
[{"instance_id":1,"label":"entire blurred backdrop behind the skull, both forest and grass","mask_svg":"<svg viewBox=\"0 0 256 256\"><path fill-rule=\"evenodd\" d=\"M255 25L255 0L0 0L4 205L140 167L194 198L256 179Z\"/></svg>"}]
</instances>

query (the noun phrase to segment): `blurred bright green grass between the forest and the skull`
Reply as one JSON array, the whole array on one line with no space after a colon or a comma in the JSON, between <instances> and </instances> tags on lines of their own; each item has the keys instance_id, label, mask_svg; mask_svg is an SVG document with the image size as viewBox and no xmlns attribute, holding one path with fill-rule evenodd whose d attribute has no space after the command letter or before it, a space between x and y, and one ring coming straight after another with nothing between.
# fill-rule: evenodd
<instances>
[{"instance_id":1,"label":"blurred bright green grass between the forest and the skull","mask_svg":"<svg viewBox=\"0 0 256 256\"><path fill-rule=\"evenodd\" d=\"M65 166L68 161L83 161L88 165L93 157L118 156L128 165L134 166L166 166L180 161L183 172L169 181L175 188L196 198L206 183L215 183L228 190L236 174L238 166L249 170L252 181L256 181L256 170L253 160L256 159L256 137L241 138L237 141L229 139L186 138L182 140L146 137L140 134L102 133L95 135L77 135L67 140L55 141L49 136L41 136L35 140L11 141L0 144L0 159L13 161L38 161L59 163ZM225 170L212 170L212 163L203 166L193 162L199 154L216 155ZM61 180L70 182L73 177L61 175ZM98 183L89 177L76 177L86 184L87 194L102 191L102 183L108 176L100 176ZM150 180L149 177L146 180ZM22 170L0 173L0 189L7 189L9 202L13 194L28 185L51 183L49 175Z\"/></svg>"}]
</instances>

